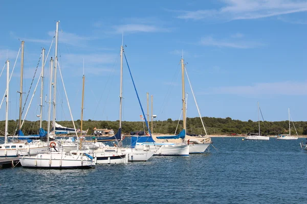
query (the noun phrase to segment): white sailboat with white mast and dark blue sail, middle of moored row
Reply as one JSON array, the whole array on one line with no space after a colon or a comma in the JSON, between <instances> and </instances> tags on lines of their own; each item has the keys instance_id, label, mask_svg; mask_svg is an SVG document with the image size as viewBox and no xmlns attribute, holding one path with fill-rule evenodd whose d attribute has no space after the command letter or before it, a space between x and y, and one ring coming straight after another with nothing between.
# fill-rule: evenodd
<instances>
[{"instance_id":1,"label":"white sailboat with white mast and dark blue sail, middle of moored row","mask_svg":"<svg viewBox=\"0 0 307 204\"><path fill-rule=\"evenodd\" d=\"M127 157L128 161L147 161L152 155L155 153L154 150L150 150L149 148L136 149L130 147L123 147L121 137L121 127L122 127L122 86L123 86L123 45L121 45L120 55L121 55L121 64L120 64L120 95L119 95L119 129L117 134L115 135L116 139L119 140L119 145L116 147L104 146L95 150L95 154L97 157L97 161L99 161L99 157L101 155L109 154L108 162L111 163L112 160L114 162L119 162L118 160L123 158L123 155ZM118 154L118 157L115 157ZM101 160L101 159L100 159Z\"/></svg>"}]
</instances>

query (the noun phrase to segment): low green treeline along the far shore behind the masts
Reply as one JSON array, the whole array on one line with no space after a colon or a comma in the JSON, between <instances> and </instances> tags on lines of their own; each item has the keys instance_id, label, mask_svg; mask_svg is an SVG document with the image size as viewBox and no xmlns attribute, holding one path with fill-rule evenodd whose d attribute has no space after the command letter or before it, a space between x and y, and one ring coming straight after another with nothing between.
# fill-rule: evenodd
<instances>
[{"instance_id":1,"label":"low green treeline along the far shore behind the masts","mask_svg":"<svg viewBox=\"0 0 307 204\"><path fill-rule=\"evenodd\" d=\"M240 121L233 120L230 117L227 118L209 118L203 117L203 121L206 127L208 135L218 134L246 134L246 133L258 133L258 121L253 122L252 120ZM43 121L42 127L47 131L47 121ZM73 128L72 121L57 121L58 124L66 127ZM9 120L9 134L13 135L17 128L18 121ZM81 121L75 121L76 129L80 128ZM165 121L153 121L153 133L161 134L174 134L178 120L167 119ZM151 126L151 123L149 122ZM299 135L307 135L307 122L297 121L294 122L296 131ZM97 121L97 120L86 120L83 121L83 130L89 129L87 133L90 135L93 133L94 127L97 129L113 129L117 132L119 121ZM182 121L179 121L177 133L182 130ZM122 122L122 133L130 133L131 131L141 131L146 127L145 122ZM39 129L39 121L25 121L22 131L25 135L37 134ZM146 128L145 128L146 130ZM260 122L261 134L265 135L278 135L278 134L289 134L289 121L277 121L277 122ZM4 135L5 121L0 121L0 135ZM202 127L200 118L187 118L187 133L188 134L205 134ZM291 122L291 134L295 134L293 123Z\"/></svg>"}]
</instances>

